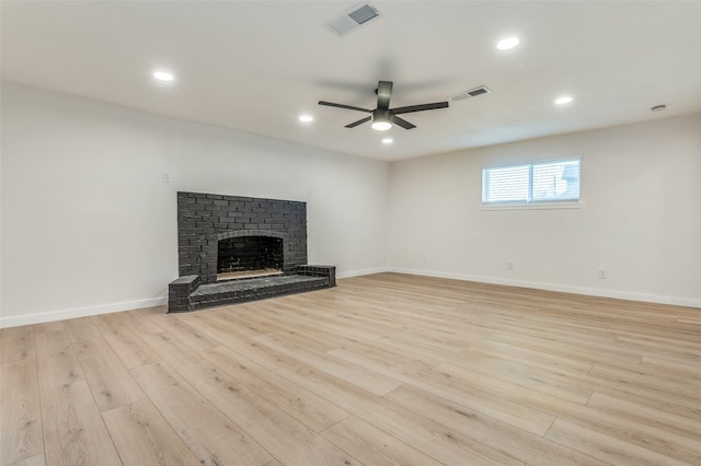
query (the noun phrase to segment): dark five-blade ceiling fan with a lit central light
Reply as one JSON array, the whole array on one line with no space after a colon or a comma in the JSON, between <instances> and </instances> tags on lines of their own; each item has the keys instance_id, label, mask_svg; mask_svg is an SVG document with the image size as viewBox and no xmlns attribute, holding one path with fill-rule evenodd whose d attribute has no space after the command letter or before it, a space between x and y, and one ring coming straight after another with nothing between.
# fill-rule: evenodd
<instances>
[{"instance_id":1,"label":"dark five-blade ceiling fan with a lit central light","mask_svg":"<svg viewBox=\"0 0 701 466\"><path fill-rule=\"evenodd\" d=\"M447 102L435 102L433 104L410 105L406 107L390 108L390 97L392 96L392 81L380 81L377 84L375 93L377 94L377 108L374 110L360 107L354 107L352 105L334 104L333 102L319 101L319 105L326 105L330 107L347 108L350 110L358 110L371 114L368 117L361 118L357 121L346 125L346 128L355 128L365 121L372 120L372 129L378 131L386 131L392 127L392 125L401 126L404 129L416 128L416 125L412 125L403 118L397 115L407 114L411 112L433 110L435 108L446 108Z\"/></svg>"}]
</instances>

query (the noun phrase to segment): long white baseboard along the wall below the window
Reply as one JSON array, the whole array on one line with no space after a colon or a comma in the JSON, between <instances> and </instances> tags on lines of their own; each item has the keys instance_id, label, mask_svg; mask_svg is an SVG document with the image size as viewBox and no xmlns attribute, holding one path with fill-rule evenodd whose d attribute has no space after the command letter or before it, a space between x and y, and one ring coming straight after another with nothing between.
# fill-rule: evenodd
<instances>
[{"instance_id":1,"label":"long white baseboard along the wall below the window","mask_svg":"<svg viewBox=\"0 0 701 466\"><path fill-rule=\"evenodd\" d=\"M676 306L701 308L701 299L667 296L664 294L639 293L622 290L602 290L598 288L584 288L570 284L541 283L535 281L508 280L494 277L471 276L462 273L449 273L432 270L405 269L391 267L389 271L397 273L409 273L424 277L449 278L453 280L476 281L481 283L505 284L507 287L530 288L535 290L556 291L561 293L584 294L589 296L613 298L617 300L643 301L656 304L671 304Z\"/></svg>"}]
</instances>

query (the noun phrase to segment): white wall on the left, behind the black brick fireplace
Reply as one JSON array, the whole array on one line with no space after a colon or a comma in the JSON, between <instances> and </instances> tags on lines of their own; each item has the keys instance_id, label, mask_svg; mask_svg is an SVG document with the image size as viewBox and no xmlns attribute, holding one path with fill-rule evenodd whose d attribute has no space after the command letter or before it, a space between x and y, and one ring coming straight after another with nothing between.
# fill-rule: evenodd
<instances>
[{"instance_id":1,"label":"white wall on the left, behind the black brick fireplace","mask_svg":"<svg viewBox=\"0 0 701 466\"><path fill-rule=\"evenodd\" d=\"M1 149L0 326L163 303L179 190L306 201L310 264L387 266L384 162L9 83Z\"/></svg>"}]
</instances>

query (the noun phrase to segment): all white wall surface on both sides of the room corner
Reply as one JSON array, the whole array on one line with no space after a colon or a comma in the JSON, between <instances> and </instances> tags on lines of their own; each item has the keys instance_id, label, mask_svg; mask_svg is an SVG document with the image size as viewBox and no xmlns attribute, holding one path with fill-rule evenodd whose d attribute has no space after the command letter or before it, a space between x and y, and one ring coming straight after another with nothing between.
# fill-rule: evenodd
<instances>
[{"instance_id":1,"label":"all white wall surface on both sides of the room corner","mask_svg":"<svg viewBox=\"0 0 701 466\"><path fill-rule=\"evenodd\" d=\"M177 190L307 201L309 260L342 277L701 307L701 115L390 165L15 84L1 105L0 326L163 303ZM581 209L481 209L483 167L571 155Z\"/></svg>"}]
</instances>

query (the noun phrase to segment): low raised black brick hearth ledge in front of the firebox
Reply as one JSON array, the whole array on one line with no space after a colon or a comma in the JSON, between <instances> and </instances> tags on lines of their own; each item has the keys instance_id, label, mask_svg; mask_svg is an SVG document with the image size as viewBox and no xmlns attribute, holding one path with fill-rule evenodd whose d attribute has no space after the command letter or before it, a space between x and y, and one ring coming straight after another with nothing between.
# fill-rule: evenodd
<instances>
[{"instance_id":1,"label":"low raised black brick hearth ledge in front of the firebox","mask_svg":"<svg viewBox=\"0 0 701 466\"><path fill-rule=\"evenodd\" d=\"M207 307L303 293L336 286L334 266L297 266L297 273L202 284L199 276L180 277L168 286L168 312Z\"/></svg>"}]
</instances>

